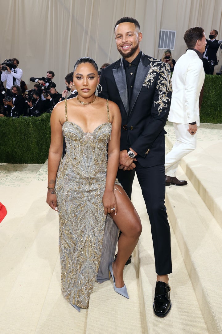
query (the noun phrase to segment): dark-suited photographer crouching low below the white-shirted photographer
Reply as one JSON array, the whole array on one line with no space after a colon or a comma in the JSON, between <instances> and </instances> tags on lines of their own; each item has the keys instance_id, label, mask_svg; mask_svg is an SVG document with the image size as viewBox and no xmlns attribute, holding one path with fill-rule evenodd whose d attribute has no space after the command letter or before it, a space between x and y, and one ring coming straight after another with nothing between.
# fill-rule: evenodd
<instances>
[{"instance_id":1,"label":"dark-suited photographer crouching low below the white-shirted photographer","mask_svg":"<svg viewBox=\"0 0 222 334\"><path fill-rule=\"evenodd\" d=\"M26 115L25 99L22 96L20 86L13 85L10 96L6 96L3 100L5 108L4 115L6 117L19 117Z\"/></svg>"}]
</instances>

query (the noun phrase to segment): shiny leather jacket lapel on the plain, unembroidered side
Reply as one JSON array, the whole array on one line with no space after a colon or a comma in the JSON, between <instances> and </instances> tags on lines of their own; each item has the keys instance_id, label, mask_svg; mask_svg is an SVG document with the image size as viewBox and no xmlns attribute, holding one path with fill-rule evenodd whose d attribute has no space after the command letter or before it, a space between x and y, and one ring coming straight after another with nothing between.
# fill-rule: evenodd
<instances>
[{"instance_id":1,"label":"shiny leather jacket lapel on the plain, unembroidered side","mask_svg":"<svg viewBox=\"0 0 222 334\"><path fill-rule=\"evenodd\" d=\"M128 98L128 90L126 83L126 75L125 69L123 65L123 61L121 58L120 66L116 66L112 69L113 76L115 79L115 83L119 92L120 99L122 100L123 106L125 108L126 114L129 113L129 98Z\"/></svg>"}]
</instances>

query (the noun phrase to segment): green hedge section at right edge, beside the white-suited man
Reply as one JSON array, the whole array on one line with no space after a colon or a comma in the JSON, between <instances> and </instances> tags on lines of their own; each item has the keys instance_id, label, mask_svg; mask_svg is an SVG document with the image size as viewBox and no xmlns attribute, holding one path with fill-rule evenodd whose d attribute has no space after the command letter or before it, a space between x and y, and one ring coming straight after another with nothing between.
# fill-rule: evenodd
<instances>
[{"instance_id":1,"label":"green hedge section at right edge, beside the white-suited man","mask_svg":"<svg viewBox=\"0 0 222 334\"><path fill-rule=\"evenodd\" d=\"M222 75L205 75L201 123L222 123Z\"/></svg>"}]
</instances>

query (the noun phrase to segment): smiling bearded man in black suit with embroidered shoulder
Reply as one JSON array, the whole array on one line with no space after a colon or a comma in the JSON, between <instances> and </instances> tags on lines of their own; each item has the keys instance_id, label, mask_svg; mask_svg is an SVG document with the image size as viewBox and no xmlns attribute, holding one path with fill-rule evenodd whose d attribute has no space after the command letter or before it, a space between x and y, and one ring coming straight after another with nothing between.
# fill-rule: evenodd
<instances>
[{"instance_id":1,"label":"smiling bearded man in black suit with embroidered shoulder","mask_svg":"<svg viewBox=\"0 0 222 334\"><path fill-rule=\"evenodd\" d=\"M165 199L165 130L171 98L170 69L139 49L142 33L137 20L115 24L117 50L122 58L101 70L103 98L115 102L122 116L117 178L131 197L135 175L151 224L157 283L153 309L165 316L171 308L168 274L172 272L170 228Z\"/></svg>"}]
</instances>

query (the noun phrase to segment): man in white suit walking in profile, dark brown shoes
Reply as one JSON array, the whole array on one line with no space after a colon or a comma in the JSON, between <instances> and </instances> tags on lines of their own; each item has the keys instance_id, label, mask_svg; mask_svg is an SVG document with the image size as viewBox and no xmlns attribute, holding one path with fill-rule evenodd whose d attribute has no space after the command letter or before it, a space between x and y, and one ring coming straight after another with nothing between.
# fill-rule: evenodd
<instances>
[{"instance_id":1,"label":"man in white suit walking in profile, dark brown shoes","mask_svg":"<svg viewBox=\"0 0 222 334\"><path fill-rule=\"evenodd\" d=\"M200 125L199 96L204 83L202 56L206 46L203 28L194 27L184 34L187 51L176 62L172 75L172 99L168 121L173 122L176 142L165 157L166 186L183 186L176 178L181 158L196 148L197 126Z\"/></svg>"}]
</instances>

